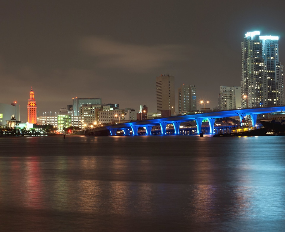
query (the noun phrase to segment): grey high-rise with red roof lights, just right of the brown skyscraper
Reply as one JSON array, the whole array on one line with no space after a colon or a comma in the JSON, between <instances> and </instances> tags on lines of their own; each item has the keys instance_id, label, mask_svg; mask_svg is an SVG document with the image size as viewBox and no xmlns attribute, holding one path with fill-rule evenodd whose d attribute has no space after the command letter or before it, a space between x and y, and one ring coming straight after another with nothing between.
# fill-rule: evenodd
<instances>
[{"instance_id":1,"label":"grey high-rise with red roof lights, just right of the brown skyscraper","mask_svg":"<svg viewBox=\"0 0 285 232\"><path fill-rule=\"evenodd\" d=\"M197 111L196 87L195 85L182 84L178 88L178 112Z\"/></svg>"}]
</instances>

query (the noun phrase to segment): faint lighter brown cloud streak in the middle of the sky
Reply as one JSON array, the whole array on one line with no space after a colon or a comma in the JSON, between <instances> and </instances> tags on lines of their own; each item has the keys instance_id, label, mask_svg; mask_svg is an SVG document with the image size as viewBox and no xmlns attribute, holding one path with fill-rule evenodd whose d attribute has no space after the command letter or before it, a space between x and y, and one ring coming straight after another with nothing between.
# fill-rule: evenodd
<instances>
[{"instance_id":1,"label":"faint lighter brown cloud streak in the middle of the sky","mask_svg":"<svg viewBox=\"0 0 285 232\"><path fill-rule=\"evenodd\" d=\"M117 68L131 73L149 73L154 68L164 68L169 62L186 60L183 45L134 45L99 37L82 40L84 51L98 58L96 66Z\"/></svg>"}]
</instances>

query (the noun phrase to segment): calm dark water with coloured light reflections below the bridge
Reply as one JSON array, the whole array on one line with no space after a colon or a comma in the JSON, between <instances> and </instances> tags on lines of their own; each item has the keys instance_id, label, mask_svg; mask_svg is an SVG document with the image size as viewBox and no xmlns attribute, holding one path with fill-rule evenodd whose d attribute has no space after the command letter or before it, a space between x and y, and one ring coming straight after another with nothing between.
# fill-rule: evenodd
<instances>
[{"instance_id":1,"label":"calm dark water with coloured light reflections below the bridge","mask_svg":"<svg viewBox=\"0 0 285 232\"><path fill-rule=\"evenodd\" d=\"M284 231L285 137L0 138L0 231Z\"/></svg>"}]
</instances>

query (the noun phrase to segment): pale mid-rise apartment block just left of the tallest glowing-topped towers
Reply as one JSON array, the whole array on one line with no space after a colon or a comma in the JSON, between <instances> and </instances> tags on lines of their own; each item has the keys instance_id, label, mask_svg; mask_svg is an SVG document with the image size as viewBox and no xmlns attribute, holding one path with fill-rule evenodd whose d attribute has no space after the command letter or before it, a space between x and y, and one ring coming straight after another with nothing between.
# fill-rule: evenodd
<instances>
[{"instance_id":1,"label":"pale mid-rise apartment block just left of the tallest glowing-topped towers","mask_svg":"<svg viewBox=\"0 0 285 232\"><path fill-rule=\"evenodd\" d=\"M240 86L220 86L219 110L238 109L241 107Z\"/></svg>"}]
</instances>

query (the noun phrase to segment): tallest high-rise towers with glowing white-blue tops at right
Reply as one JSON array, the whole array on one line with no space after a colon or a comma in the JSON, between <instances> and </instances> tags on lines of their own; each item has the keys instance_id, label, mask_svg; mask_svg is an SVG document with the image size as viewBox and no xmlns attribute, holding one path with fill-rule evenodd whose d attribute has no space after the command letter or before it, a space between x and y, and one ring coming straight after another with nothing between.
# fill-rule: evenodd
<instances>
[{"instance_id":1,"label":"tallest high-rise towers with glowing white-blue tops at right","mask_svg":"<svg viewBox=\"0 0 285 232\"><path fill-rule=\"evenodd\" d=\"M248 32L242 42L242 108L284 104L278 36Z\"/></svg>"}]
</instances>

